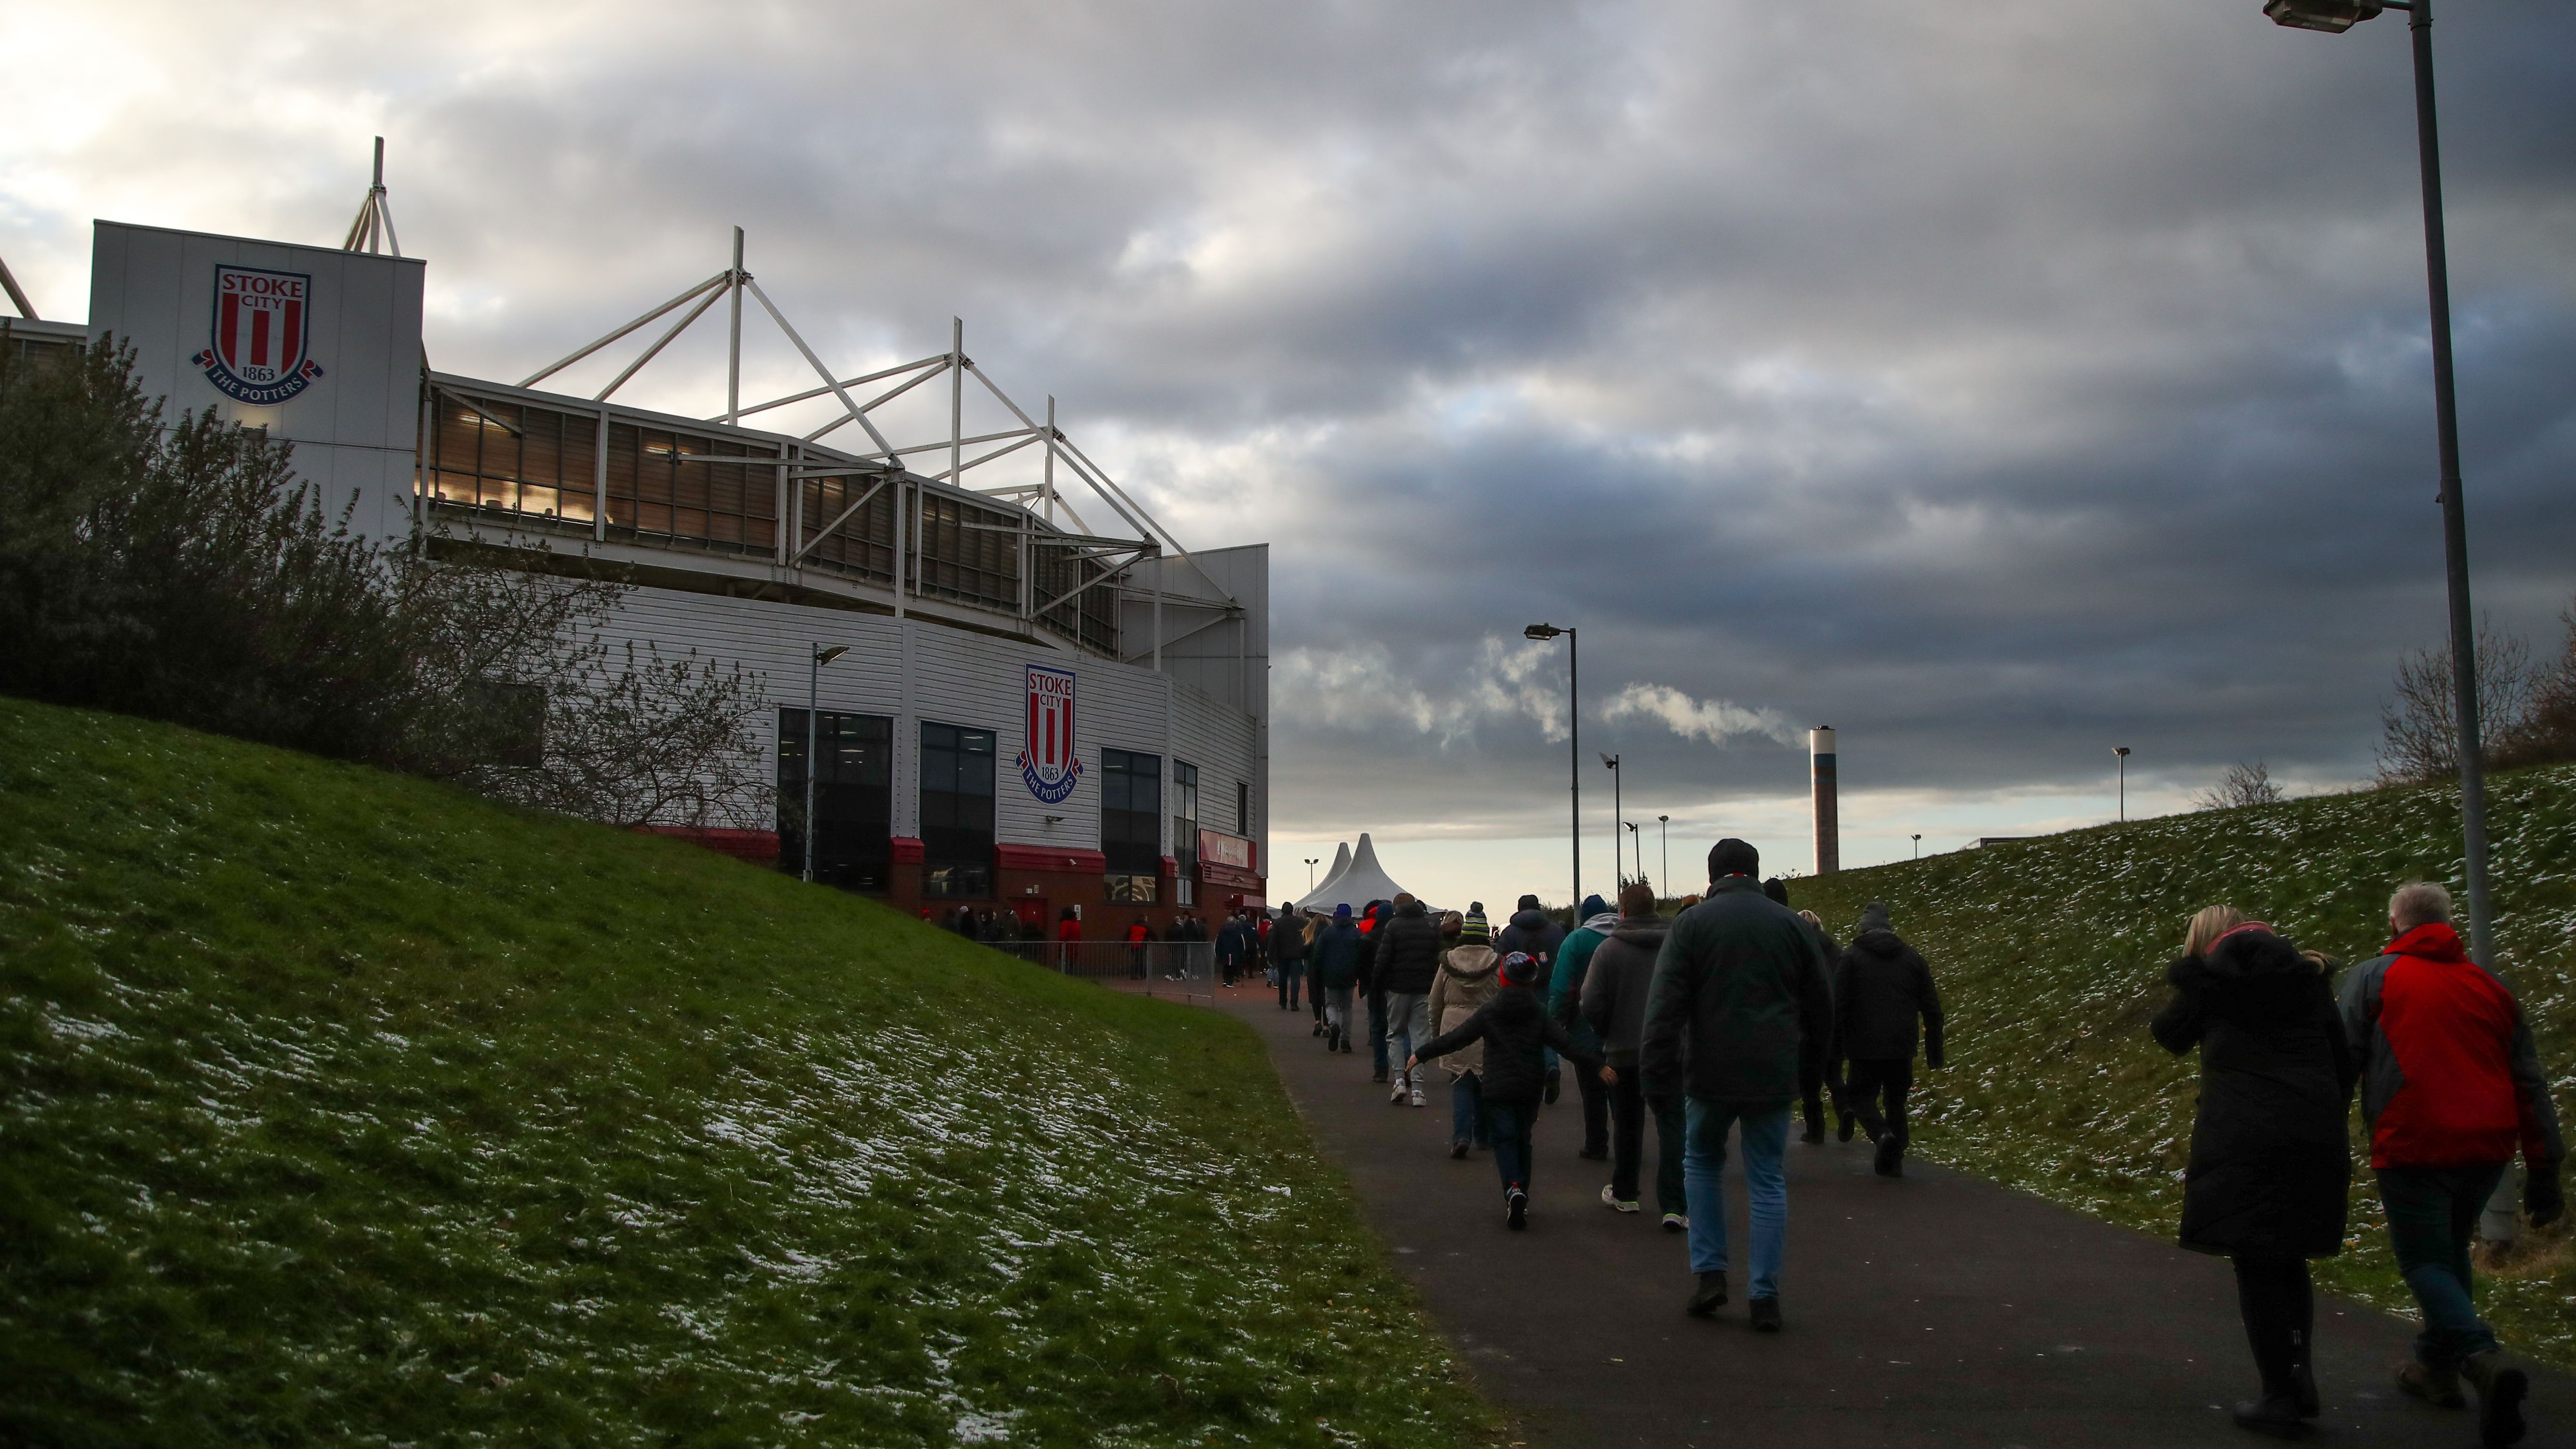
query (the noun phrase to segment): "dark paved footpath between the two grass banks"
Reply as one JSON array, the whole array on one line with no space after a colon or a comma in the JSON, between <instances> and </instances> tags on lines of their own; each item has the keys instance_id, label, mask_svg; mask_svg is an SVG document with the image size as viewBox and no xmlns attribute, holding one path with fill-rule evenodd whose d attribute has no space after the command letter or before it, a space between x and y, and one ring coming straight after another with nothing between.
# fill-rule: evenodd
<instances>
[{"instance_id":1,"label":"dark paved footpath between the two grass banks","mask_svg":"<svg viewBox=\"0 0 2576 1449\"><path fill-rule=\"evenodd\" d=\"M1270 1044L1324 1155L1466 1354L1546 1449L1860 1449L2264 1444L2228 1423L2254 1390L2218 1258L2076 1217L1929 1163L1870 1173L1868 1145L1790 1140L1788 1333L1744 1328L1744 1181L1728 1168L1734 1302L1682 1315L1682 1235L1600 1204L1574 1085L1538 1122L1530 1227L1507 1232L1486 1152L1448 1155L1448 1075L1396 1109L1368 1055L1327 1055L1306 1013L1249 985L1218 1008ZM1654 1140L1649 1134L1649 1160ZM1651 1199L1651 1178L1649 1178ZM2316 1444L2478 1441L2473 1415L2406 1400L2385 1364L2411 1325L2318 1299ZM2576 1379L2532 1377L2532 1436L2576 1444Z\"/></svg>"}]
</instances>

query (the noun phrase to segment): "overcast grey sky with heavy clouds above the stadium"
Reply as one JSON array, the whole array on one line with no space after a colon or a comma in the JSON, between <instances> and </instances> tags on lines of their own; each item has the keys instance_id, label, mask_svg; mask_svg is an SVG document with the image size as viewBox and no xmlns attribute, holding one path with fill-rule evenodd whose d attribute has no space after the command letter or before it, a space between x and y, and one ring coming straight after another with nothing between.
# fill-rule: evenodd
<instances>
[{"instance_id":1,"label":"overcast grey sky with heavy clouds above the stadium","mask_svg":"<svg viewBox=\"0 0 2576 1449\"><path fill-rule=\"evenodd\" d=\"M2553 639L2576 5L2442 15L2478 603ZM443 369L533 371L732 224L837 369L966 317L1185 541L1273 544L1291 882L1376 830L1427 895L1564 895L1533 619L1680 882L1718 833L1806 864L1808 724L1852 864L2105 820L2112 745L2133 812L2342 786L2442 637L2396 13L0 0L0 54L46 315L93 217L335 242L384 134ZM716 348L636 400L721 407ZM1584 804L1600 890L1597 763Z\"/></svg>"}]
</instances>

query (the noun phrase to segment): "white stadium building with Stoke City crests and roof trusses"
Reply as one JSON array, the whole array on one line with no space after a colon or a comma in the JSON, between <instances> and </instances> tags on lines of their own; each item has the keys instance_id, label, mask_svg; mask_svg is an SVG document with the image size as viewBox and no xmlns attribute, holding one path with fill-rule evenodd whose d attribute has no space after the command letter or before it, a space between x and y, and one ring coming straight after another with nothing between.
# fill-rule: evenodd
<instances>
[{"instance_id":1,"label":"white stadium building with Stoke City crests and roof trusses","mask_svg":"<svg viewBox=\"0 0 2576 1449\"><path fill-rule=\"evenodd\" d=\"M1267 902L1265 544L1182 549L1054 400L1033 415L984 374L963 325L940 353L835 374L744 271L739 229L729 266L515 382L430 364L425 271L379 162L343 248L98 222L88 325L10 320L0 345L113 335L167 415L294 441L355 529L618 578L613 645L760 676L773 804L665 830L804 869L811 694L824 882L1048 931L1079 908L1087 938ZM729 327L721 410L616 400L701 320ZM744 402L744 322L814 384ZM605 387L546 387L585 366ZM945 402L945 428L889 436L907 394ZM969 433L969 402L1007 423Z\"/></svg>"}]
</instances>

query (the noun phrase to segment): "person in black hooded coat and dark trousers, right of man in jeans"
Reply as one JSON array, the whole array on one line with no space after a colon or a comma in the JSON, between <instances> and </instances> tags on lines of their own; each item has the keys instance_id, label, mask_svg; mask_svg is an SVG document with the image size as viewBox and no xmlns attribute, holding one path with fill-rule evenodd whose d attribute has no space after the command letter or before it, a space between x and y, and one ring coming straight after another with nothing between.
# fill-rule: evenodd
<instances>
[{"instance_id":1,"label":"person in black hooded coat and dark trousers, right of man in jeans","mask_svg":"<svg viewBox=\"0 0 2576 1449\"><path fill-rule=\"evenodd\" d=\"M1821 949L1821 933L1816 941ZM1917 1044L1932 1070L1942 1070L1932 967L1891 928L1888 908L1873 900L1860 908L1860 931L1834 969L1834 1047L1826 1052L1826 1070L1842 1075L1842 1062L1852 1065L1844 1104L1878 1145L1870 1165L1883 1178L1901 1178L1906 1171L1906 1093L1914 1091ZM1808 1119L1808 1129L1816 1140L1824 1137L1821 1111Z\"/></svg>"}]
</instances>

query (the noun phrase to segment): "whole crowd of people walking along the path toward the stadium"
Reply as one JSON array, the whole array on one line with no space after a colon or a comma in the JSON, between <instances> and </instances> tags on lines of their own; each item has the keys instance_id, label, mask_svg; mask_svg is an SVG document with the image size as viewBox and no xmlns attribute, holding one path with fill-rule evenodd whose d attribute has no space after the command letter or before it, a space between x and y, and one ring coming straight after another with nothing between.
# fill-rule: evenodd
<instances>
[{"instance_id":1,"label":"whole crowd of people walking along the path toward the stadium","mask_svg":"<svg viewBox=\"0 0 2576 1449\"><path fill-rule=\"evenodd\" d=\"M1873 1171L1904 1178L1917 1062L1947 1065L1947 1021L1929 962L1870 902L1842 946L1759 853L1718 841L1705 897L1672 918L1646 884L1613 910L1584 900L1571 931L1522 897L1502 933L1484 905L1430 913L1414 897L1332 915L1280 913L1270 959L1311 982L1327 1052L1370 1042L1388 1104L1448 1088L1450 1158L1492 1150L1504 1225L1530 1217L1533 1129L1574 1073L1577 1158L1610 1165L1600 1201L1687 1235L1685 1312L1710 1318L1741 1266L1747 1325L1780 1333L1788 1240L1788 1137L1865 1134ZM2517 1444L2530 1374L2470 1297L2470 1238L2519 1152L2535 1225L2563 1214L2566 1155L2548 1075L2514 993L2478 967L2450 923L2450 895L2411 884L2388 902L2388 949L2342 972L2236 908L2192 915L2172 1000L2151 1034L2200 1052L2184 1171L2182 1245L2223 1256L2259 1379L2233 1408L2249 1431L2311 1434L2321 1395L2308 1263L2347 1240L2354 1091L2398 1271L2421 1307L2401 1392L2476 1405L2481 1444ZM1285 946L1280 944L1285 941ZM2342 980L2336 980L2342 977ZM1728 1243L1723 1168L1744 1158L1749 1243Z\"/></svg>"}]
</instances>

